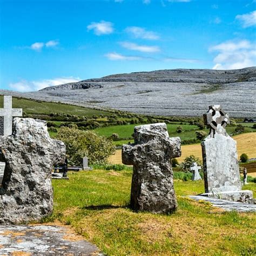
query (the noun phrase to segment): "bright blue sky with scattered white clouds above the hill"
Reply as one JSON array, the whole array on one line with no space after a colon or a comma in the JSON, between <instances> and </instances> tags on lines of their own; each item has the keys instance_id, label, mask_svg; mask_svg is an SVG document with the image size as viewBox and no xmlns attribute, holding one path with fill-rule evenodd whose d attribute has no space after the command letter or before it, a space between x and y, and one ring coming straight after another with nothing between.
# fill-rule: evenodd
<instances>
[{"instance_id":1,"label":"bright blue sky with scattered white clouds above the hill","mask_svg":"<svg viewBox=\"0 0 256 256\"><path fill-rule=\"evenodd\" d=\"M0 0L0 88L256 65L256 0Z\"/></svg>"}]
</instances>

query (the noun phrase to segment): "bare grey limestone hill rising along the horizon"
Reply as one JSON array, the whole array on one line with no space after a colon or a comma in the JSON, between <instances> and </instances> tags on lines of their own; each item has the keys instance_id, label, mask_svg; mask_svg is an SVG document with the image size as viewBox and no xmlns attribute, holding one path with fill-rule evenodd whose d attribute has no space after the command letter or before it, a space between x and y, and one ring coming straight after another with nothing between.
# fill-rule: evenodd
<instances>
[{"instance_id":1,"label":"bare grey limestone hill rising along the horizon","mask_svg":"<svg viewBox=\"0 0 256 256\"><path fill-rule=\"evenodd\" d=\"M163 116L201 116L218 102L233 117L254 118L255 81L255 67L176 69L118 74L38 92L0 90L0 94Z\"/></svg>"}]
</instances>

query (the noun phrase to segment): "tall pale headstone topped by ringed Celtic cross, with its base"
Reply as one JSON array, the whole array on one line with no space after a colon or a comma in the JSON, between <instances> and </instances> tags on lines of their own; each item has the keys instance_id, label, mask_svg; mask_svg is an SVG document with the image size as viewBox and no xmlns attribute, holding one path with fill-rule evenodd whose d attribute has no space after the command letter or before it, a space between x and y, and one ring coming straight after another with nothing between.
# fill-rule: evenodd
<instances>
[{"instance_id":1,"label":"tall pale headstone topped by ringed Celtic cross, with its base","mask_svg":"<svg viewBox=\"0 0 256 256\"><path fill-rule=\"evenodd\" d=\"M201 143L204 162L205 196L252 203L252 191L241 190L237 142L228 136L225 127L228 114L220 105L209 106L204 114L210 134Z\"/></svg>"}]
</instances>

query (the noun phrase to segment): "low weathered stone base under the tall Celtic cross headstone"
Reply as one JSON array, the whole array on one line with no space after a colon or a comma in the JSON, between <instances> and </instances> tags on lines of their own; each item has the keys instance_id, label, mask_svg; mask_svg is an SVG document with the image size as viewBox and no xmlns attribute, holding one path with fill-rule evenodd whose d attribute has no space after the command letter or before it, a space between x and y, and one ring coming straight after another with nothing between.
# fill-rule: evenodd
<instances>
[{"instance_id":1,"label":"low weathered stone base under the tall Celtic cross headstone","mask_svg":"<svg viewBox=\"0 0 256 256\"><path fill-rule=\"evenodd\" d=\"M218 193L203 193L200 196L223 199L246 204L253 204L253 193L251 190L225 191Z\"/></svg>"}]
</instances>

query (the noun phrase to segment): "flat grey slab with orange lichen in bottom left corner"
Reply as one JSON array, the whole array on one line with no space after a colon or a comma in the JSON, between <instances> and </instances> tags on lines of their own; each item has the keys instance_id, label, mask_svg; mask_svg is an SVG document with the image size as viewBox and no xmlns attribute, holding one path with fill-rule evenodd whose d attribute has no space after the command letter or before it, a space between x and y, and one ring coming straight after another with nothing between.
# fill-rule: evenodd
<instances>
[{"instance_id":1,"label":"flat grey slab with orange lichen in bottom left corner","mask_svg":"<svg viewBox=\"0 0 256 256\"><path fill-rule=\"evenodd\" d=\"M0 226L0 255L100 255L98 248L62 226Z\"/></svg>"}]
</instances>

